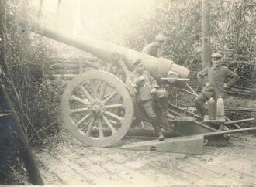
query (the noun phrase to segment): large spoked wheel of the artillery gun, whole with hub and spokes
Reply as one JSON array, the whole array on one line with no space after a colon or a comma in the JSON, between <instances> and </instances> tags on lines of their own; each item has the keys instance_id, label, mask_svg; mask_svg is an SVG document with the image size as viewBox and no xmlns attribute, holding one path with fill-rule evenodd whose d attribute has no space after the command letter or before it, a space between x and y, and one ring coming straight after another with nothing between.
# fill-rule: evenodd
<instances>
[{"instance_id":1,"label":"large spoked wheel of the artillery gun, whole with hub and spokes","mask_svg":"<svg viewBox=\"0 0 256 187\"><path fill-rule=\"evenodd\" d=\"M71 80L64 90L61 107L69 131L79 141L96 147L106 147L123 138L134 112L125 84L99 70Z\"/></svg>"}]
</instances>

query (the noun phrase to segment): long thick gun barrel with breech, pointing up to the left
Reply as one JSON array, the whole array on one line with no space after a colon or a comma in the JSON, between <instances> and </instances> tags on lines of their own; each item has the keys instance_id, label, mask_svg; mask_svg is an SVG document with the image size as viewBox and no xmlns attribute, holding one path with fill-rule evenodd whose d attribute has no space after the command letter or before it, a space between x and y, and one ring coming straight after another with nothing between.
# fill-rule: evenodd
<instances>
[{"instance_id":1,"label":"long thick gun barrel with breech, pointing up to the left","mask_svg":"<svg viewBox=\"0 0 256 187\"><path fill-rule=\"evenodd\" d=\"M123 56L123 59L125 59L126 66L128 68L131 67L131 64L135 60L143 59L145 70L149 71L154 79L161 83L168 81L175 87L184 87L185 81L171 79L162 80L162 78L187 79L189 76L189 69L175 64L171 60L155 58L154 56L149 56L136 50L128 49L109 42L102 42L95 39L76 36L53 27L45 27L40 35L54 39L58 42L63 42L87 53L91 53L106 62L109 61L112 53L119 53Z\"/></svg>"}]
</instances>

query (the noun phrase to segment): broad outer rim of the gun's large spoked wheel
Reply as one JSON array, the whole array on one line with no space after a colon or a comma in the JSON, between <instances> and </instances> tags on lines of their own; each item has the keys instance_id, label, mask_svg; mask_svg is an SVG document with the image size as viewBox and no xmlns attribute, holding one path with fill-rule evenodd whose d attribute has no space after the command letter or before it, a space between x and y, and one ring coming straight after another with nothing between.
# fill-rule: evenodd
<instances>
[{"instance_id":1,"label":"broad outer rim of the gun's large spoked wheel","mask_svg":"<svg viewBox=\"0 0 256 187\"><path fill-rule=\"evenodd\" d=\"M110 89L114 89L114 90L116 89L116 91L117 91L116 95L123 98L123 107L125 110L124 116L121 117L121 118L123 118L123 120L121 120L122 122L119 122L120 127L118 129L116 129L115 132L113 132L112 128L111 128L112 134L108 137L103 137L103 138L98 137L97 138L97 137L92 137L91 133L86 134L86 132L83 132L76 127L77 125L75 125L74 119L71 117L71 114L73 114L73 113L71 113L71 110L72 111L81 110L81 109L71 109L70 102L72 100L74 100L74 99L72 99L72 98L74 98L73 91L75 89L78 89L78 87L81 86L81 83L85 83L86 81L92 81L92 80L103 81L104 83L107 83L107 85L109 87L111 85L113 88L110 87ZM104 97L105 97L105 95L104 95ZM77 101L77 98L75 98L75 99L76 99L75 101ZM86 100L86 98L83 100ZM102 99L101 101L103 101L103 100L106 100L106 98ZM88 106L89 106L89 104L88 104ZM107 107L107 106L109 106L109 105L105 105L105 107ZM99 71L99 70L92 70L87 73L82 73L82 74L76 76L73 80L71 80L67 84L67 87L64 89L64 93L63 93L62 100L61 100L61 108L62 108L62 116L63 116L64 124L67 126L67 129L69 131L71 131L71 133L74 134L74 136L76 138L78 138L79 141L85 143L86 145L95 146L95 147L106 147L106 146L116 143L121 138L123 138L123 136L125 136L126 132L129 131L129 129L130 129L130 125L132 123L133 113L134 113L133 100L130 97L129 91L126 89L126 85L121 80L119 80L116 76L112 75L111 73L107 73L105 71ZM86 108L87 108L87 106L84 107L84 110L87 110ZM114 110L115 109L116 108L114 107ZM92 123L94 123L94 124L92 124L92 126L95 126L97 123L98 129L100 129L100 126L102 126L103 124L100 125L100 123L102 123L102 122L100 122L99 118L101 118L101 121L104 121L105 124L107 124L106 126L108 126L109 123L106 122L106 118L108 119L108 117L109 117L108 114L110 114L110 113L106 114L106 112L105 112L105 114L103 114L102 116L98 116L99 115L98 113L100 113L100 114L103 113L103 112L101 112L101 110L99 110L99 111L98 110L97 110L96 117L95 117L95 113L94 113L95 110L92 111L93 114L91 114L91 116L95 117L95 122L92 122ZM108 111L108 110L106 109L106 111ZM115 117L115 115L114 115L114 117ZM77 122L77 124L79 124L79 121ZM88 125L90 125L90 124L88 124ZM78 126L80 126L80 125L78 125ZM99 134L100 134L100 132L99 132ZM104 130L103 130L103 134L104 134Z\"/></svg>"}]
</instances>

